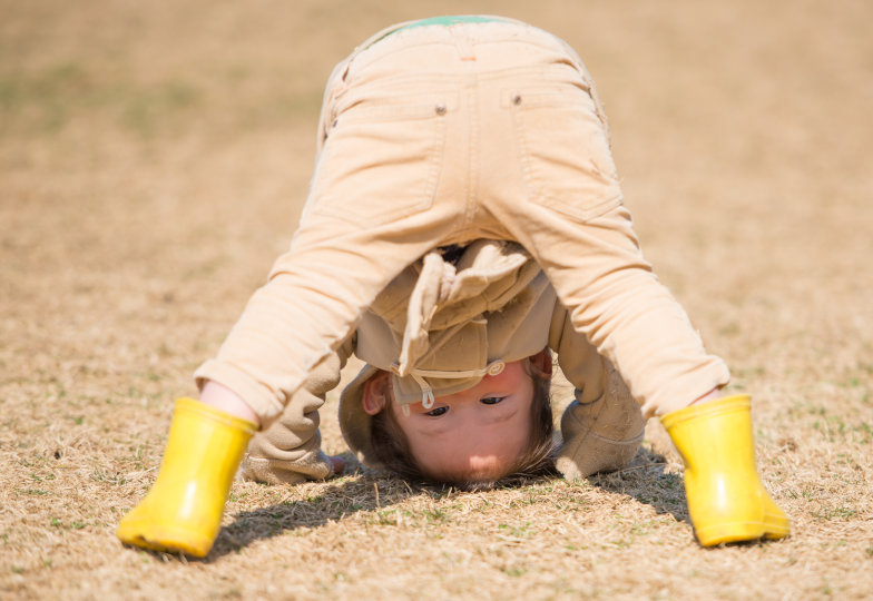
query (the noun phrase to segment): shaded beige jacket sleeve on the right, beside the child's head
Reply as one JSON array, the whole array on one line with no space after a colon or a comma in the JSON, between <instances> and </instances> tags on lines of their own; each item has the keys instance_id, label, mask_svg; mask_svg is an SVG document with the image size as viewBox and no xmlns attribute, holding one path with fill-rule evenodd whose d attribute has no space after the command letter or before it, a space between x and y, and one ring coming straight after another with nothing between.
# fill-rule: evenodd
<instances>
[{"instance_id":1,"label":"shaded beige jacket sleeve on the right, beside the child's head","mask_svg":"<svg viewBox=\"0 0 873 601\"><path fill-rule=\"evenodd\" d=\"M643 441L646 421L639 404L612 364L576 332L562 307L556 311L549 338L576 396L561 417L558 471L576 480L620 470Z\"/></svg>"}]
</instances>

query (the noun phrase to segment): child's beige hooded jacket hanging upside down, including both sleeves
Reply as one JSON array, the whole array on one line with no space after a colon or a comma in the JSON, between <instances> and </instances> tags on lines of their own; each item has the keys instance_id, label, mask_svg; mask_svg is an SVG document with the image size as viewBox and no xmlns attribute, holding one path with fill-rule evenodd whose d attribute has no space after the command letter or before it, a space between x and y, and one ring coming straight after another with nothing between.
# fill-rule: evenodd
<instances>
[{"instance_id":1,"label":"child's beige hooded jacket hanging upside down, including both sleeves","mask_svg":"<svg viewBox=\"0 0 873 601\"><path fill-rule=\"evenodd\" d=\"M559 469L583 477L620 467L643 436L639 405L611 365L576 333L530 255L516 243L478 240L429 253L379 295L354 336L312 372L281 418L255 436L244 475L265 482L330 475L318 450L316 410L351 352L367 365L343 392L340 425L359 460L379 466L370 416L361 406L363 383L377 370L392 373L398 403L428 406L434 396L469 388L504 363L547 346L576 386L561 423Z\"/></svg>"}]
</instances>

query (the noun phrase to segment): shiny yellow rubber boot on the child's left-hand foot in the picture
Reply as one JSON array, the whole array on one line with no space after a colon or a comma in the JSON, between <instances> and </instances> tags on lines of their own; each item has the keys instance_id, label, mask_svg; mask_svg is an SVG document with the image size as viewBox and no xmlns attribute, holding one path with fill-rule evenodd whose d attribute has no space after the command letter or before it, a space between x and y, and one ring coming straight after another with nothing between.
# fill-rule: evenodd
<instances>
[{"instance_id":1,"label":"shiny yellow rubber boot on the child's left-hand foot in the picture","mask_svg":"<svg viewBox=\"0 0 873 601\"><path fill-rule=\"evenodd\" d=\"M121 542L206 556L255 430L252 422L199 401L177 400L158 477L118 524Z\"/></svg>"}]
</instances>

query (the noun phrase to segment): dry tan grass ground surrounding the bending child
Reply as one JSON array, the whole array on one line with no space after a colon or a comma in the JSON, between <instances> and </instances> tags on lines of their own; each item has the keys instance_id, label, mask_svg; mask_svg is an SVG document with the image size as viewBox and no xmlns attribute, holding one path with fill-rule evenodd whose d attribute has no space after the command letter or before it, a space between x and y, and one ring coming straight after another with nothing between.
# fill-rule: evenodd
<instances>
[{"instance_id":1,"label":"dry tan grass ground surrounding the bending child","mask_svg":"<svg viewBox=\"0 0 873 601\"><path fill-rule=\"evenodd\" d=\"M469 12L585 58L644 249L754 395L793 535L698 546L653 430L585 482L236 483L206 560L122 548L174 397L288 245L331 67ZM0 597L870 598L871 22L866 0L0 0Z\"/></svg>"}]
</instances>

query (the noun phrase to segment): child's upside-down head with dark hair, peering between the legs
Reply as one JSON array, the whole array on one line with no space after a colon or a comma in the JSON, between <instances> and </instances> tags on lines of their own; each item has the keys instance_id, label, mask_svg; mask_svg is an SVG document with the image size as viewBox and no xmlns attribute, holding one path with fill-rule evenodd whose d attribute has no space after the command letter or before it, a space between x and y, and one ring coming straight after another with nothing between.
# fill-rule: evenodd
<instances>
[{"instance_id":1,"label":"child's upside-down head with dark hair, peering between the legs","mask_svg":"<svg viewBox=\"0 0 873 601\"><path fill-rule=\"evenodd\" d=\"M433 406L393 402L391 377L379 372L363 385L361 403L372 416L373 451L389 470L410 480L481 489L550 466L551 357L543 351L507 363L471 388L436 396Z\"/></svg>"}]
</instances>

